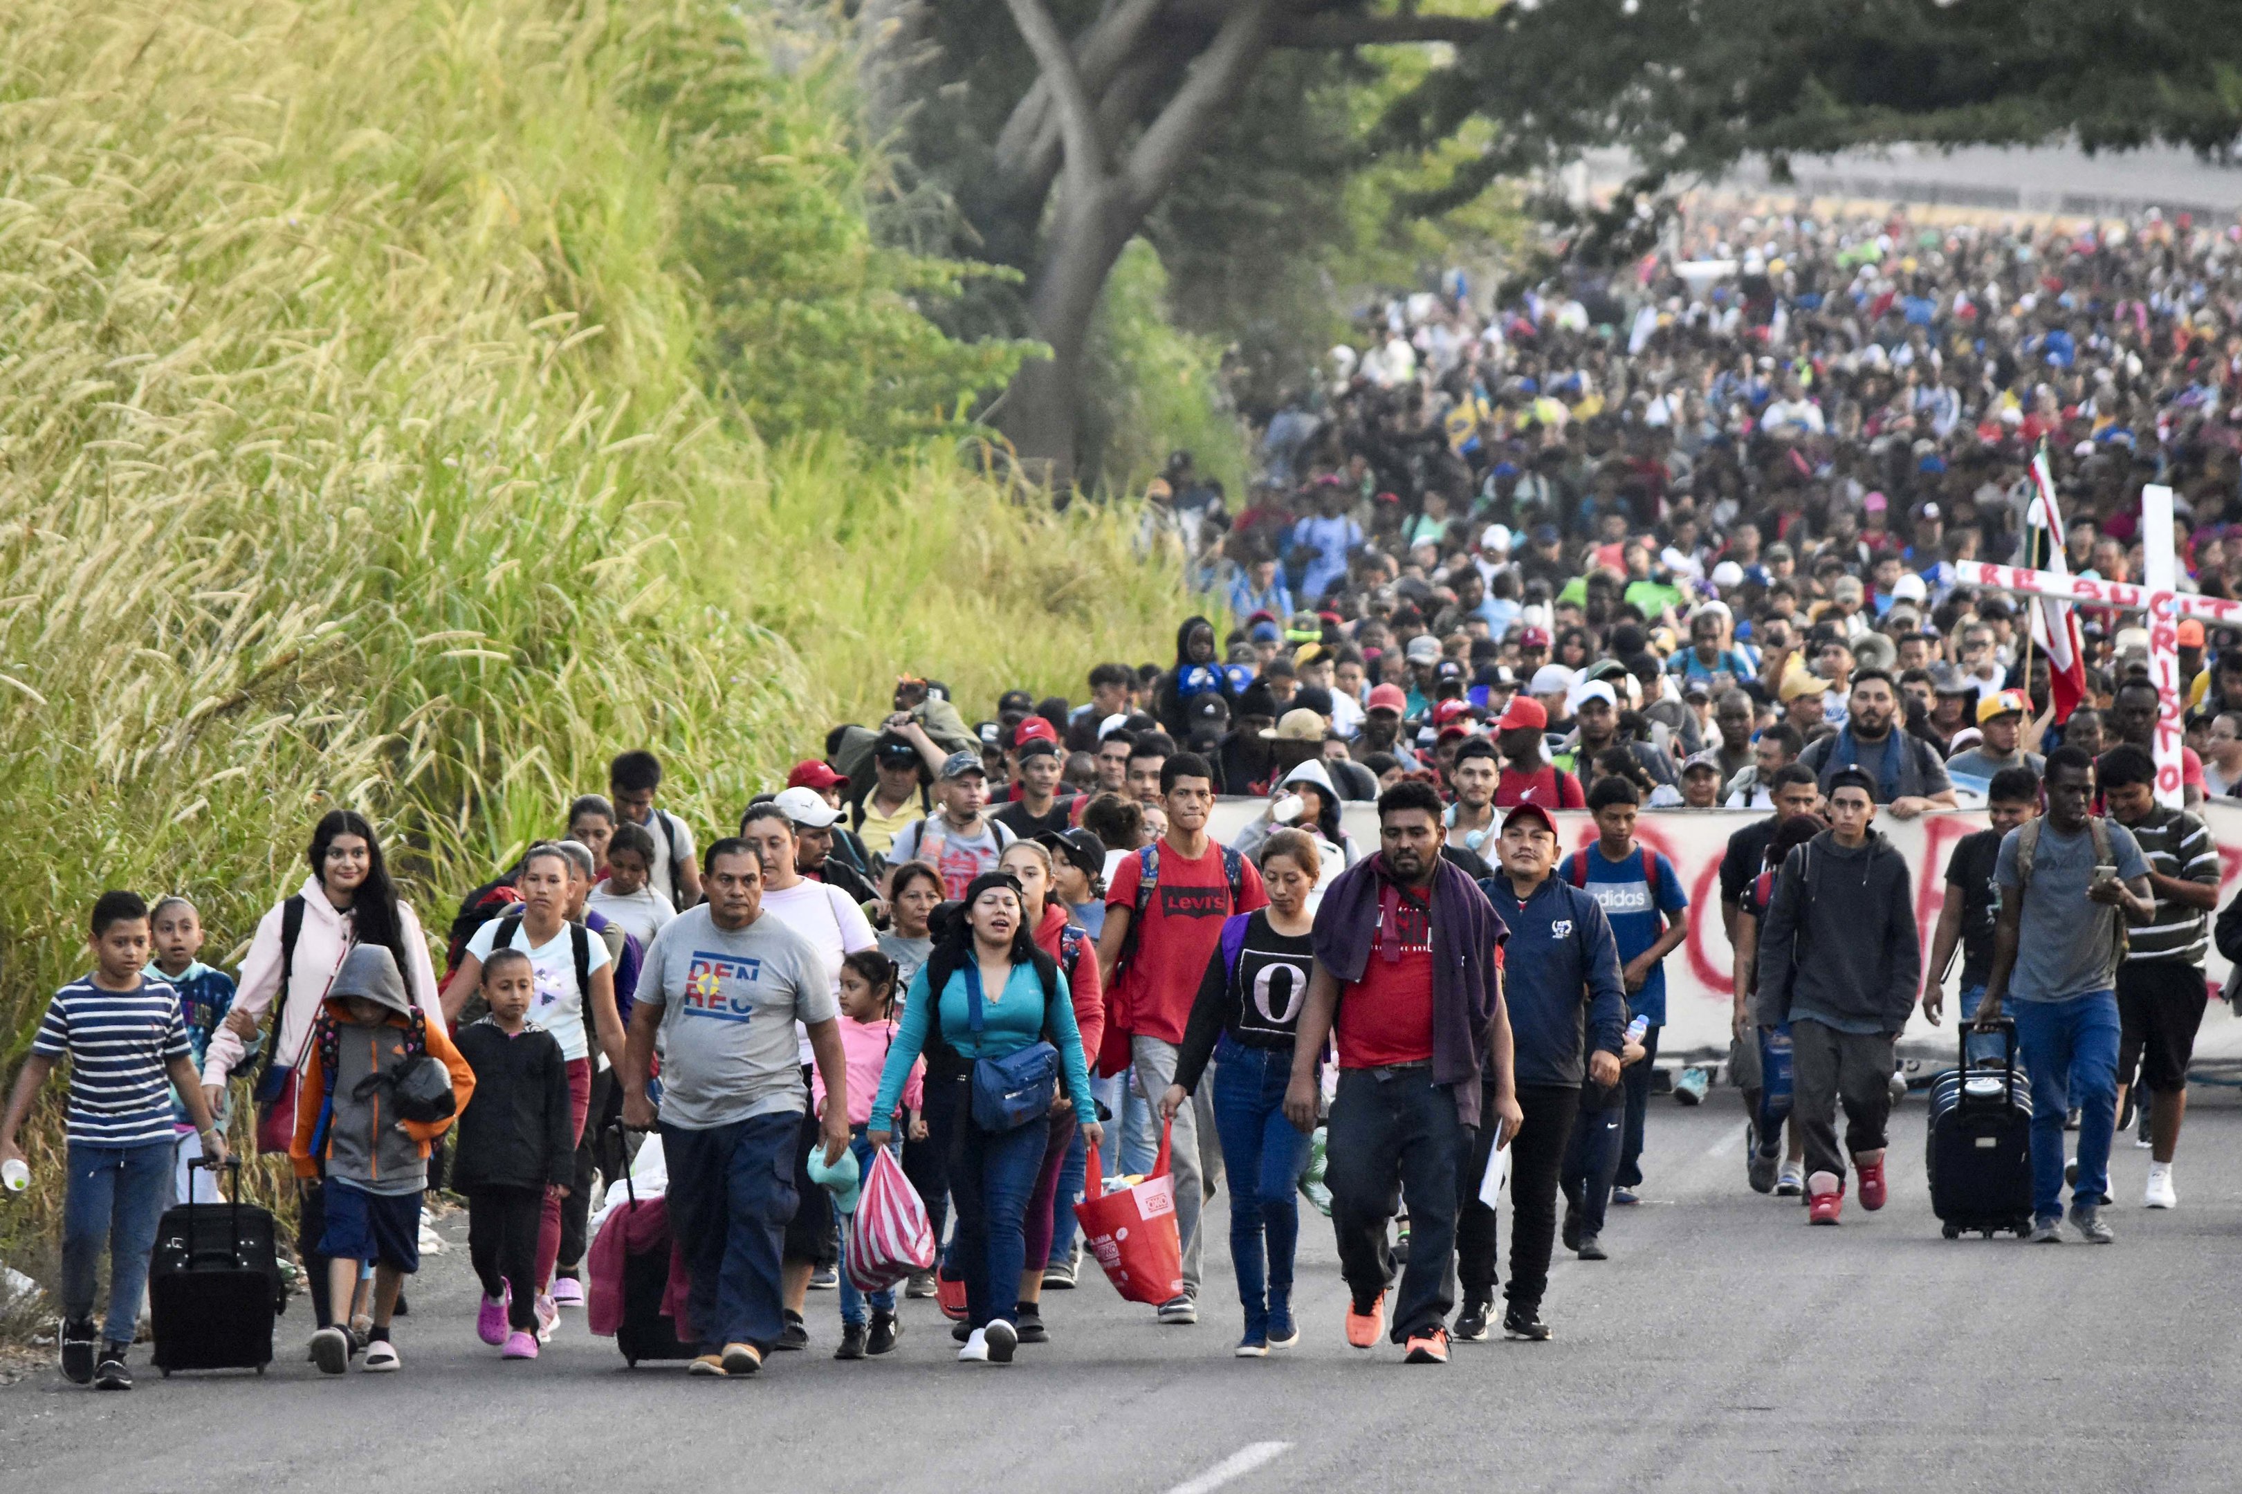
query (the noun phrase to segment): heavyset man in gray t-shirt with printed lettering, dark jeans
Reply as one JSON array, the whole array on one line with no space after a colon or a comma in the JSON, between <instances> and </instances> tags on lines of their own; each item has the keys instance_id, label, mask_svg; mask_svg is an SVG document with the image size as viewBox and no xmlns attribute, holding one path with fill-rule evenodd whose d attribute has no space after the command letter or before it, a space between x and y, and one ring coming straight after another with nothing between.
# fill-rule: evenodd
<instances>
[{"instance_id":1,"label":"heavyset man in gray t-shirt with printed lettering, dark jeans","mask_svg":"<svg viewBox=\"0 0 2242 1494\"><path fill-rule=\"evenodd\" d=\"M742 839L708 846L706 904L646 951L623 1045L623 1122L659 1122L670 1229L693 1279L702 1335L695 1375L751 1375L785 1330L780 1252L794 1218L803 1075L794 1023L809 1030L830 1104L825 1162L847 1151L841 1009L818 951L762 915L762 864ZM661 1036L659 1115L648 1097Z\"/></svg>"}]
</instances>

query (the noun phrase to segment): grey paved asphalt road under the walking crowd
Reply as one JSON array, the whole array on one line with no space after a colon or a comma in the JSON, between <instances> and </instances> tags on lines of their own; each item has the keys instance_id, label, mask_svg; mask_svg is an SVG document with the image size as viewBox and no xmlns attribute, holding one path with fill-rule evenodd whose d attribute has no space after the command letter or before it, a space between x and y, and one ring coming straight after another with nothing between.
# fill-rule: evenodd
<instances>
[{"instance_id":1,"label":"grey paved asphalt road under the walking crowd","mask_svg":"<svg viewBox=\"0 0 2242 1494\"><path fill-rule=\"evenodd\" d=\"M574 1317L538 1364L500 1364L473 1337L455 1218L455 1249L399 1324L401 1375L321 1380L294 1348L298 1299L291 1353L267 1380L148 1375L132 1395L94 1395L49 1375L0 1391L0 1485L1157 1494L1244 1467L1220 1487L2231 1490L2242 1106L2226 1090L2197 1099L2179 1211L2134 1207L2146 1153L2121 1137L2107 1249L1942 1241L1919 1097L1894 1128L1894 1202L1841 1229L1744 1189L1733 1092L1702 1110L1659 1101L1648 1198L1614 1211L1612 1261L1556 1265L1558 1337L1460 1346L1446 1368L1343 1344L1314 1216L1303 1346L1264 1362L1229 1353L1217 1245L1215 1310L1197 1328L1159 1328L1090 1281L1049 1294L1054 1341L1009 1371L955 1364L928 1301L906 1303L892 1359L836 1364L823 1292L814 1350L756 1382L626 1371Z\"/></svg>"}]
</instances>

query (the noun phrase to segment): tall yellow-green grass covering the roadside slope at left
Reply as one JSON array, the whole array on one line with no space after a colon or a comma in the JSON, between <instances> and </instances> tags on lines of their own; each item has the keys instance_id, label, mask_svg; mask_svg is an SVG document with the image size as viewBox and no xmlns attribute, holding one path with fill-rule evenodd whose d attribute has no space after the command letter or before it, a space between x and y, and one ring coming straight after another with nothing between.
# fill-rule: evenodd
<instances>
[{"instance_id":1,"label":"tall yellow-green grass covering the roadside slope at left","mask_svg":"<svg viewBox=\"0 0 2242 1494\"><path fill-rule=\"evenodd\" d=\"M99 888L224 958L323 808L442 922L619 747L715 826L899 668L1157 657L1173 574L957 460L1013 352L870 249L845 70L760 56L708 0L0 7L7 1057Z\"/></svg>"}]
</instances>

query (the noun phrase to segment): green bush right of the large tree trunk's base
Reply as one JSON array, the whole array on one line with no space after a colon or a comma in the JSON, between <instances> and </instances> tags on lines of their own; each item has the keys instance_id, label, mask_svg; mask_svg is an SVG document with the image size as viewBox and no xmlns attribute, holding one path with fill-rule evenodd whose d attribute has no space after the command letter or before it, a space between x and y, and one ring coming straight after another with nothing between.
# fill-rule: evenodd
<instances>
[{"instance_id":1,"label":"green bush right of the large tree trunk's base","mask_svg":"<svg viewBox=\"0 0 2242 1494\"><path fill-rule=\"evenodd\" d=\"M1105 280L1087 352L1083 467L1114 491L1141 491L1175 449L1233 502L1247 485L1247 440L1222 390L1222 345L1168 319L1168 271L1130 240Z\"/></svg>"}]
</instances>

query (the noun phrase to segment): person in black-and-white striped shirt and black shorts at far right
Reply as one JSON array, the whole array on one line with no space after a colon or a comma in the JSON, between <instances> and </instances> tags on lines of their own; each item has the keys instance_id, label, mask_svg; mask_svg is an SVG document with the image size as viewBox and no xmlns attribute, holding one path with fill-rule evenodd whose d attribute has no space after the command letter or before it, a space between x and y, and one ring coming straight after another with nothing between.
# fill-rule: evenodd
<instances>
[{"instance_id":1,"label":"person in black-and-white striped shirt and black shorts at far right","mask_svg":"<svg viewBox=\"0 0 2242 1494\"><path fill-rule=\"evenodd\" d=\"M2157 902L2146 924L2125 931L2125 962L2116 967L2116 1108L2125 1090L2148 1090L2148 1189L2141 1202L2172 1209L2172 1153L2188 1113L2188 1059L2204 1021L2208 987L2204 953L2211 949L2206 915L2220 900L2220 848L2204 821L2157 803L2157 763L2146 749L2119 743L2101 756L2096 778L2110 819L2132 830L2148 859L2148 891ZM2139 1090L2134 1104L2141 1104Z\"/></svg>"}]
</instances>

